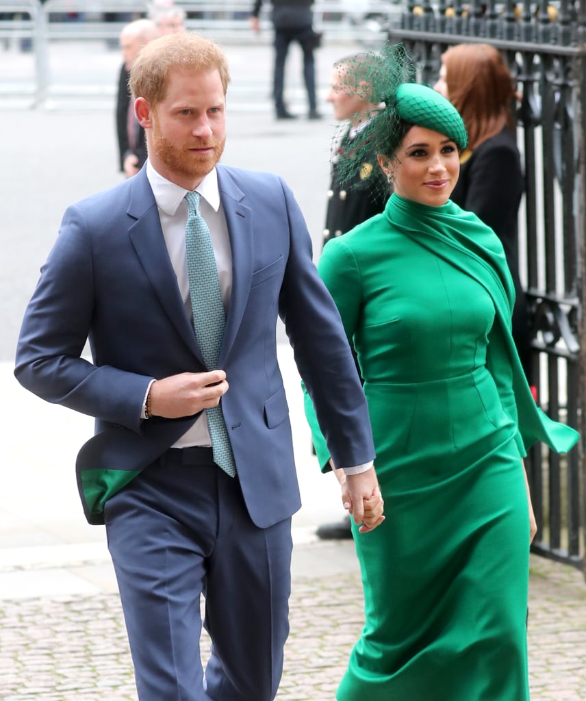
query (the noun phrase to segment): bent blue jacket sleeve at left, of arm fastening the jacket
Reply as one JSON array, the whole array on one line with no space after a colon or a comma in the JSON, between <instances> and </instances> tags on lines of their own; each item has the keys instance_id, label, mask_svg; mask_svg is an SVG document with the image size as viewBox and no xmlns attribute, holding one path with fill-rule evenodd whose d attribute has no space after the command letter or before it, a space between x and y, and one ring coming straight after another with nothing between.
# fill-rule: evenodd
<instances>
[{"instance_id":1,"label":"bent blue jacket sleeve at left, of arm fastening the jacket","mask_svg":"<svg viewBox=\"0 0 586 701\"><path fill-rule=\"evenodd\" d=\"M139 432L142 399L153 378L81 358L95 301L88 228L72 205L27 306L15 375L48 402Z\"/></svg>"}]
</instances>

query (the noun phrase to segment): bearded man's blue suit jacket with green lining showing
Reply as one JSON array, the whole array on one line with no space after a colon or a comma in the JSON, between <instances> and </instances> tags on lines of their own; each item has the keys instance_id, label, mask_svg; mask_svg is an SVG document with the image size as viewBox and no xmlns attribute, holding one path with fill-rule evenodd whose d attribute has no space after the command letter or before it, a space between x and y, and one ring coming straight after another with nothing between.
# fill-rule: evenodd
<instances>
[{"instance_id":1,"label":"bearded man's blue suit jacket with green lining showing","mask_svg":"<svg viewBox=\"0 0 586 701\"><path fill-rule=\"evenodd\" d=\"M222 411L250 516L266 527L301 505L278 315L336 465L367 462L374 448L341 320L292 192L268 173L217 171L233 258ZM86 339L92 360L81 358ZM107 498L197 418L141 421L149 381L204 369L145 169L68 207L22 322L15 375L43 399L96 417L77 459L90 523L103 523Z\"/></svg>"}]
</instances>

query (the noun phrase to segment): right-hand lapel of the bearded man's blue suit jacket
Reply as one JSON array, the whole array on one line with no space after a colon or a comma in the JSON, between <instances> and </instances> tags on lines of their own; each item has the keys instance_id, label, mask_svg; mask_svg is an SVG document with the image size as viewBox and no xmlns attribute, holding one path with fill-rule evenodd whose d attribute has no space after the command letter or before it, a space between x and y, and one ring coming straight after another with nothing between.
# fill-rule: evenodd
<instances>
[{"instance_id":1,"label":"right-hand lapel of the bearded man's blue suit jacket","mask_svg":"<svg viewBox=\"0 0 586 701\"><path fill-rule=\"evenodd\" d=\"M226 168L217 166L217 173L232 252L232 293L226 317L224 343L218 362L219 367L222 367L238 333L248 301L252 280L253 245L252 211L242 202L244 193Z\"/></svg>"}]
</instances>

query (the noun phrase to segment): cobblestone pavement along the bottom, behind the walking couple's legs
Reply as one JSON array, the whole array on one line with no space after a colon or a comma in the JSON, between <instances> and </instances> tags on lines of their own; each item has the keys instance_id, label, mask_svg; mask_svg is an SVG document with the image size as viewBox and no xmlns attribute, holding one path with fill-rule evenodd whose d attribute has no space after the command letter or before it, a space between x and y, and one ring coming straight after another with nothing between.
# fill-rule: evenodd
<instances>
[{"instance_id":1,"label":"cobblestone pavement along the bottom, behind the walking couple's legs","mask_svg":"<svg viewBox=\"0 0 586 701\"><path fill-rule=\"evenodd\" d=\"M302 547L306 557L319 559L324 547L336 546ZM337 547L341 559L353 557L351 545ZM529 609L531 699L585 701L586 585L581 574L532 556ZM136 701L117 594L1 601L0 624L1 699ZM355 569L336 576L294 576L291 635L277 700L333 701L361 627Z\"/></svg>"}]
</instances>

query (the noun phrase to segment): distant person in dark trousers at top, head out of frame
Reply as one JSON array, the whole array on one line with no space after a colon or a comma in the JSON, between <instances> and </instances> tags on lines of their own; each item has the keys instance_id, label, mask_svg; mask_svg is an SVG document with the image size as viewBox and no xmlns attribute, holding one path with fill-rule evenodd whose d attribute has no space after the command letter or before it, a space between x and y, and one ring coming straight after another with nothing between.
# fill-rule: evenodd
<instances>
[{"instance_id":1,"label":"distant person in dark trousers at top, head out of frame","mask_svg":"<svg viewBox=\"0 0 586 701\"><path fill-rule=\"evenodd\" d=\"M263 0L254 0L250 26L259 32L259 14ZM277 119L294 119L296 115L285 107L285 61L289 44L297 41L304 55L304 82L309 103L308 119L320 119L315 97L315 60L313 50L318 46L320 34L313 30L313 0L271 0L271 19L275 29L275 69L273 74L273 99Z\"/></svg>"}]
</instances>

